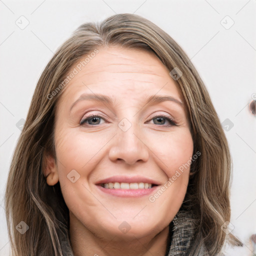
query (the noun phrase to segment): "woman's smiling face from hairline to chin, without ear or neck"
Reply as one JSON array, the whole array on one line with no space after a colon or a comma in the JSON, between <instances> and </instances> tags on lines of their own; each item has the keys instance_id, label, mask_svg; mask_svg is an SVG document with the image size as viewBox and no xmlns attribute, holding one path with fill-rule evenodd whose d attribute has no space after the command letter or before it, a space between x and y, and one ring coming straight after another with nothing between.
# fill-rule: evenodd
<instances>
[{"instance_id":1,"label":"woman's smiling face from hairline to chin, without ear or neck","mask_svg":"<svg viewBox=\"0 0 256 256\"><path fill-rule=\"evenodd\" d=\"M189 168L176 174L193 152L182 96L153 53L98 50L71 68L78 72L56 109L54 168L70 225L100 237L156 234L177 213L188 184Z\"/></svg>"}]
</instances>

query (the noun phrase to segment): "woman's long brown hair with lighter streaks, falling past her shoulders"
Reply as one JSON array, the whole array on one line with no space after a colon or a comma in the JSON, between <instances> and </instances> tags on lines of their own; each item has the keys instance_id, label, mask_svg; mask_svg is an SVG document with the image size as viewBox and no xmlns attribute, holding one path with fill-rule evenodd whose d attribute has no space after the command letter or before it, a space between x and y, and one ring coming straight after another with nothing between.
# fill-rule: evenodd
<instances>
[{"instance_id":1,"label":"woman's long brown hair with lighter streaks, falling past her shoulders","mask_svg":"<svg viewBox=\"0 0 256 256\"><path fill-rule=\"evenodd\" d=\"M107 45L151 50L168 70L178 67L182 72L176 81L188 109L194 153L201 152L191 163L193 174L182 205L197 219L189 255L196 255L202 243L209 255L216 255L226 238L221 226L230 219L231 159L225 134L205 85L185 52L167 33L135 14L116 14L99 24L82 24L43 70L12 157L5 192L13 255L73 255L68 208L59 182L47 185L44 160L51 154L57 161L53 136L55 109L71 66ZM24 233L16 229L20 221L29 227ZM228 236L232 244L240 244L231 233Z\"/></svg>"}]
</instances>

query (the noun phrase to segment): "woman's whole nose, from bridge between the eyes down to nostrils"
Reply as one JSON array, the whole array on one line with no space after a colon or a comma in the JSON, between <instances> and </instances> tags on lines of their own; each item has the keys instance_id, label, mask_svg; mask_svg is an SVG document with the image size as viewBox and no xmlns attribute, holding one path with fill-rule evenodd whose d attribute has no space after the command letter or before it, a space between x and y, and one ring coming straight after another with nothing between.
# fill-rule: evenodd
<instances>
[{"instance_id":1,"label":"woman's whole nose, from bridge between the eyes down to nostrils","mask_svg":"<svg viewBox=\"0 0 256 256\"><path fill-rule=\"evenodd\" d=\"M140 138L140 125L136 116L122 118L116 128L114 143L109 150L109 158L112 161L124 160L127 164L136 161L146 161L148 150Z\"/></svg>"}]
</instances>

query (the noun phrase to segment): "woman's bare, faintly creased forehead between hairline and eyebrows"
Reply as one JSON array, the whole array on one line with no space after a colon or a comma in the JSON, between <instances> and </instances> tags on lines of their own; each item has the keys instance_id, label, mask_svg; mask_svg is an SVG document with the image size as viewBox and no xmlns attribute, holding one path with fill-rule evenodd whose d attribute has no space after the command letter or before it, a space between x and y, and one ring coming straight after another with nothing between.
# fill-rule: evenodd
<instances>
[{"instance_id":1,"label":"woman's bare, faintly creased forehead between hairline and eyebrows","mask_svg":"<svg viewBox=\"0 0 256 256\"><path fill-rule=\"evenodd\" d=\"M60 101L74 100L84 92L121 97L130 102L139 95L156 93L182 100L178 84L153 52L112 46L99 48L86 64L81 62L85 57L70 68L75 69L76 74L68 82Z\"/></svg>"}]
</instances>

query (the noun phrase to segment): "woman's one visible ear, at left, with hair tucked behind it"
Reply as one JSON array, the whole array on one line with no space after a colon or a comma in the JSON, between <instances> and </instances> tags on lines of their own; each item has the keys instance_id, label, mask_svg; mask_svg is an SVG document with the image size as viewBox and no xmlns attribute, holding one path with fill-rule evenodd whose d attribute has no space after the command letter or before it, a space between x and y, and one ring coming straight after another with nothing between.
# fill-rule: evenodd
<instances>
[{"instance_id":1,"label":"woman's one visible ear, at left, with hair tucked behind it","mask_svg":"<svg viewBox=\"0 0 256 256\"><path fill-rule=\"evenodd\" d=\"M46 177L47 184L50 186L55 185L58 182L58 172L54 157L50 154L45 154L43 165L43 173Z\"/></svg>"}]
</instances>

